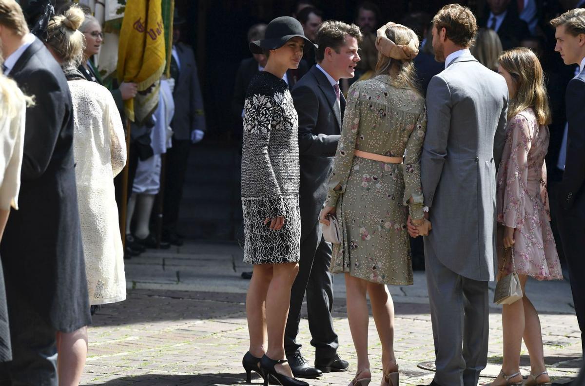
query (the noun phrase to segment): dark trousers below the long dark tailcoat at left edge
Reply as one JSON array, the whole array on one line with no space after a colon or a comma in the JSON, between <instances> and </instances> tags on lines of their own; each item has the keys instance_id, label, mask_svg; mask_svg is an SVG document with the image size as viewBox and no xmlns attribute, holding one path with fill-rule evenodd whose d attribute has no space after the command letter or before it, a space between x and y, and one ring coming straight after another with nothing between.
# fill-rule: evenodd
<instances>
[{"instance_id":1,"label":"dark trousers below the long dark tailcoat at left edge","mask_svg":"<svg viewBox=\"0 0 585 386\"><path fill-rule=\"evenodd\" d=\"M10 379L11 386L57 386L57 331L9 284L6 295L12 361L0 367L3 373L0 380Z\"/></svg>"}]
</instances>

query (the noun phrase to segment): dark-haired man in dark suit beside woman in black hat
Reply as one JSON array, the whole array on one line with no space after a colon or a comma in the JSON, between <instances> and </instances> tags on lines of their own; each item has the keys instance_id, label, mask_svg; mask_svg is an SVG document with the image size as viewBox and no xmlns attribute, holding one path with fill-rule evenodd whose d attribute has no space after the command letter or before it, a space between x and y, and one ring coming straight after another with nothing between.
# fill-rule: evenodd
<instances>
[{"instance_id":1,"label":"dark-haired man in dark suit beside woman in black hat","mask_svg":"<svg viewBox=\"0 0 585 386\"><path fill-rule=\"evenodd\" d=\"M333 330L331 244L322 237L319 211L327 193L327 180L342 127L345 98L339 91L341 78L352 78L357 62L357 43L362 33L356 25L327 21L316 35L317 63L292 88L298 113L301 167L301 260L292 285L291 304L284 334L284 349L295 377L315 378L322 372L346 371L348 364L337 354L338 337ZM307 292L311 344L315 367L309 366L297 342L302 300Z\"/></svg>"}]
</instances>

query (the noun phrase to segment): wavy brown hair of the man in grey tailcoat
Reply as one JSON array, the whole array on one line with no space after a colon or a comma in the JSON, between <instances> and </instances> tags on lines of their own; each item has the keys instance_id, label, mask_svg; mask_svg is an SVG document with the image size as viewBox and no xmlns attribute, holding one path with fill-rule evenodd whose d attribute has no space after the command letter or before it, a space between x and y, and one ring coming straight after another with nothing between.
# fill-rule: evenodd
<instances>
[{"instance_id":1,"label":"wavy brown hair of the man in grey tailcoat","mask_svg":"<svg viewBox=\"0 0 585 386\"><path fill-rule=\"evenodd\" d=\"M446 36L457 46L469 47L477 33L477 21L473 12L466 6L449 4L441 8L433 18L437 32L442 28Z\"/></svg>"}]
</instances>

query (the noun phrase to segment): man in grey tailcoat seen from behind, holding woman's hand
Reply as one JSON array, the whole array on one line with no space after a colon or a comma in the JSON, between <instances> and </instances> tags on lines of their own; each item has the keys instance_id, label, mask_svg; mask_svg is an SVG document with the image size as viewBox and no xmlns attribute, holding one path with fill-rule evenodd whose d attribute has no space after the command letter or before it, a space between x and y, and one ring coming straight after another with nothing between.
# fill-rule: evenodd
<instances>
[{"instance_id":1,"label":"man in grey tailcoat seen from behind, holding woman's hand","mask_svg":"<svg viewBox=\"0 0 585 386\"><path fill-rule=\"evenodd\" d=\"M446 5L433 18L435 60L444 61L445 70L426 92L421 158L433 226L424 240L436 354L431 385L477 385L487 364L495 169L504 147L508 89L501 75L469 52L476 32L473 13L461 5Z\"/></svg>"}]
</instances>

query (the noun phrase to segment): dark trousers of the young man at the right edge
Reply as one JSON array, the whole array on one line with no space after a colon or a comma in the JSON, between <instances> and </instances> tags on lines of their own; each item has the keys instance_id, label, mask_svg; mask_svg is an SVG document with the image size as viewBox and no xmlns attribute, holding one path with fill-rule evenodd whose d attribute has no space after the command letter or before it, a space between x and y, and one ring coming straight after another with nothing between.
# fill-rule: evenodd
<instances>
[{"instance_id":1,"label":"dark trousers of the young man at the right edge","mask_svg":"<svg viewBox=\"0 0 585 386\"><path fill-rule=\"evenodd\" d=\"M569 281L573 292L575 313L581 330L581 347L585 353L583 331L585 331L585 192L581 192L572 208L569 210L559 208L557 213L557 228L563 245L563 253L569 266ZM559 246L557 246L559 247Z\"/></svg>"}]
</instances>

